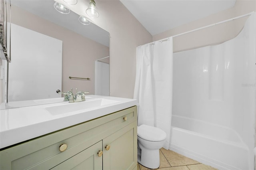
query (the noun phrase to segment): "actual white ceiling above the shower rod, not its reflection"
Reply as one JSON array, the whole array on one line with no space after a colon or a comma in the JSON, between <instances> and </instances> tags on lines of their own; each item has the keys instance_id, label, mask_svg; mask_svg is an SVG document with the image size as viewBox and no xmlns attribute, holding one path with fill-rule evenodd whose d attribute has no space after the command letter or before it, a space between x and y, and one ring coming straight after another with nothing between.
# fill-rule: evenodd
<instances>
[{"instance_id":1,"label":"actual white ceiling above the shower rod, not its reflection","mask_svg":"<svg viewBox=\"0 0 256 170\"><path fill-rule=\"evenodd\" d=\"M232 8L236 0L120 0L152 36Z\"/></svg>"}]
</instances>

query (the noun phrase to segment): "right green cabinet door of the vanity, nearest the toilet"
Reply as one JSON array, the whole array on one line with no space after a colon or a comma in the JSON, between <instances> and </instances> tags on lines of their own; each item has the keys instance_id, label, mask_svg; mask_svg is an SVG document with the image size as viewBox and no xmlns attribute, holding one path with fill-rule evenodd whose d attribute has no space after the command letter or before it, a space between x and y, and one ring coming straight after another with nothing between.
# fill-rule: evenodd
<instances>
[{"instance_id":1,"label":"right green cabinet door of the vanity, nearest the toilet","mask_svg":"<svg viewBox=\"0 0 256 170\"><path fill-rule=\"evenodd\" d=\"M132 170L137 165L137 122L104 138L103 152L104 170Z\"/></svg>"}]
</instances>

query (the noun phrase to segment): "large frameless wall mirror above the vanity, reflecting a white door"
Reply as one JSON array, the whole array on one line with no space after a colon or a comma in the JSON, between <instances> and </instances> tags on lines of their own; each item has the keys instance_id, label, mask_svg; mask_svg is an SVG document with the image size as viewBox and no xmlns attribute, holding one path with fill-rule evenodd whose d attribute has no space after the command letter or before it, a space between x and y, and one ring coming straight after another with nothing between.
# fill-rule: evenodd
<instances>
[{"instance_id":1,"label":"large frameless wall mirror above the vanity, reflecting a white door","mask_svg":"<svg viewBox=\"0 0 256 170\"><path fill-rule=\"evenodd\" d=\"M0 109L62 102L57 89L109 95L109 33L81 24L72 11L61 14L54 3L11 1L8 106Z\"/></svg>"}]
</instances>

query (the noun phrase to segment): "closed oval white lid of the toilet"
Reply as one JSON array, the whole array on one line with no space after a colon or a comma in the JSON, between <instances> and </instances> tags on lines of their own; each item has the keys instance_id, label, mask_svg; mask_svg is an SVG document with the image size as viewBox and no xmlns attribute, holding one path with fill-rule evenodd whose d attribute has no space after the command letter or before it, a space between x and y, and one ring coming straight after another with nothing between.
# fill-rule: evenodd
<instances>
[{"instance_id":1,"label":"closed oval white lid of the toilet","mask_svg":"<svg viewBox=\"0 0 256 170\"><path fill-rule=\"evenodd\" d=\"M158 142L166 139L166 132L160 128L140 125L137 128L138 136L144 140Z\"/></svg>"}]
</instances>

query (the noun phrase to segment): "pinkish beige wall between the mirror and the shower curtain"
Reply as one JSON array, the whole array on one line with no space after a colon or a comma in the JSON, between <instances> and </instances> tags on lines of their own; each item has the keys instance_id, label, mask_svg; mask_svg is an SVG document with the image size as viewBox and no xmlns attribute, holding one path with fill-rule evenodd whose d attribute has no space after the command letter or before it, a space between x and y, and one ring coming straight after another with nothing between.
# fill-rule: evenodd
<instances>
[{"instance_id":1,"label":"pinkish beige wall between the mirror and the shower curtain","mask_svg":"<svg viewBox=\"0 0 256 170\"><path fill-rule=\"evenodd\" d=\"M87 16L88 2L67 6ZM133 98L136 47L152 42L152 36L119 0L96 0L96 5L100 17L92 22L110 33L110 96Z\"/></svg>"}]
</instances>

